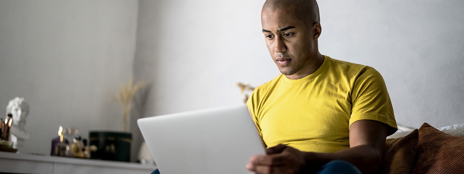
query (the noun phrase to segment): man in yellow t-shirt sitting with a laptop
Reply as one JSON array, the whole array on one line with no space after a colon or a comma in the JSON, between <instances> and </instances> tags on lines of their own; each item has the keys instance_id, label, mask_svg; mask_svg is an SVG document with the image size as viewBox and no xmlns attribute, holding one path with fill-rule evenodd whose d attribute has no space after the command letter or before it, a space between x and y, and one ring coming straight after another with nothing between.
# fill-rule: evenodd
<instances>
[{"instance_id":1,"label":"man in yellow t-shirt sitting with a laptop","mask_svg":"<svg viewBox=\"0 0 464 174\"><path fill-rule=\"evenodd\" d=\"M247 102L268 148L246 168L257 174L376 172L385 139L397 130L380 73L319 53L316 0L267 0L261 22L282 74Z\"/></svg>"}]
</instances>

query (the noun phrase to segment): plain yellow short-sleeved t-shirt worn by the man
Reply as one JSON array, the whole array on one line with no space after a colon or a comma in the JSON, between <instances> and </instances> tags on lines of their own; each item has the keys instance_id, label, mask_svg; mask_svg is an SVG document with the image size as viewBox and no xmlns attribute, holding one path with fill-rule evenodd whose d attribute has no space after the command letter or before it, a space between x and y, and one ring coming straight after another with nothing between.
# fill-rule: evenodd
<instances>
[{"instance_id":1,"label":"plain yellow short-sleeved t-shirt worn by the man","mask_svg":"<svg viewBox=\"0 0 464 174\"><path fill-rule=\"evenodd\" d=\"M267 147L335 152L349 148L349 126L365 119L397 129L380 73L328 56L306 77L292 80L281 74L259 86L247 106Z\"/></svg>"}]
</instances>

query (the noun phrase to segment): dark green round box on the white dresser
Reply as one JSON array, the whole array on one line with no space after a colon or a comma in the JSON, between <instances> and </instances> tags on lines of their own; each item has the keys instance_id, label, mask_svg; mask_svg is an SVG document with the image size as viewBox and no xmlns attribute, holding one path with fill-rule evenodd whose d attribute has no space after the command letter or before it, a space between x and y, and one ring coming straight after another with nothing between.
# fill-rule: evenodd
<instances>
[{"instance_id":1,"label":"dark green round box on the white dresser","mask_svg":"<svg viewBox=\"0 0 464 174\"><path fill-rule=\"evenodd\" d=\"M97 146L90 157L111 161L130 161L132 134L116 131L90 131L89 145Z\"/></svg>"}]
</instances>

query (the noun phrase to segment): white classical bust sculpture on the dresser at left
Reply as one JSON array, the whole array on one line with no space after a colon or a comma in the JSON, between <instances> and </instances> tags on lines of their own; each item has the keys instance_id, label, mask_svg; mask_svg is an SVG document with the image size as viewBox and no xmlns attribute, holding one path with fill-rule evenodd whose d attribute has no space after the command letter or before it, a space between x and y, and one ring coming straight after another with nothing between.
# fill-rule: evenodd
<instances>
[{"instance_id":1,"label":"white classical bust sculpture on the dresser at left","mask_svg":"<svg viewBox=\"0 0 464 174\"><path fill-rule=\"evenodd\" d=\"M8 114L11 114L13 118L13 124L10 129L10 141L13 142L13 148L19 149L22 147L24 141L29 139L29 134L24 129L26 116L29 114L29 104L24 101L24 98L16 97L10 100L8 106L6 106L6 115Z\"/></svg>"}]
</instances>

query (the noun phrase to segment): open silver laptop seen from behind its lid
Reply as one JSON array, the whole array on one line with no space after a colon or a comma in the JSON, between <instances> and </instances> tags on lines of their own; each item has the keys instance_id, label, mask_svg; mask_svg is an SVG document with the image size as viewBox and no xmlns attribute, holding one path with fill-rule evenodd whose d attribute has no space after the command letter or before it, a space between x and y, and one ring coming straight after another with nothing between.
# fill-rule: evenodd
<instances>
[{"instance_id":1,"label":"open silver laptop seen from behind its lid","mask_svg":"<svg viewBox=\"0 0 464 174\"><path fill-rule=\"evenodd\" d=\"M161 174L250 174L265 148L245 105L137 120Z\"/></svg>"}]
</instances>

